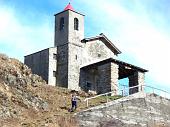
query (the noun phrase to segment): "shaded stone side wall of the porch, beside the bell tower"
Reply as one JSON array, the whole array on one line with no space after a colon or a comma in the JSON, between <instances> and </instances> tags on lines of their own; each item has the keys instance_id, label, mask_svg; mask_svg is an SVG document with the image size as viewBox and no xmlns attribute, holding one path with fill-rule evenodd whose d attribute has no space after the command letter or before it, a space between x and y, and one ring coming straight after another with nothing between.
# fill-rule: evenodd
<instances>
[{"instance_id":1,"label":"shaded stone side wall of the porch, beside the bell tower","mask_svg":"<svg viewBox=\"0 0 170 127\"><path fill-rule=\"evenodd\" d=\"M81 69L80 87L86 92L101 94L111 91L110 63L90 69Z\"/></svg>"}]
</instances>

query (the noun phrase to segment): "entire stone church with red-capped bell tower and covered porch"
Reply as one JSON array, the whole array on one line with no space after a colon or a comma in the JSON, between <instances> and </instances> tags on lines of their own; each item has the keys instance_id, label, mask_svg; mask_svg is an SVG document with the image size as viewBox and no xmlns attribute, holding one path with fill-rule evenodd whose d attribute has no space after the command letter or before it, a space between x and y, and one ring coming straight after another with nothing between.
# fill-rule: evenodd
<instances>
[{"instance_id":1,"label":"entire stone church with red-capped bell tower and covered porch","mask_svg":"<svg viewBox=\"0 0 170 127\"><path fill-rule=\"evenodd\" d=\"M69 3L55 14L54 47L25 56L24 63L49 85L72 90L117 94L123 78L129 79L129 87L144 85L147 70L117 60L121 51L103 33L84 37L84 17Z\"/></svg>"}]
</instances>

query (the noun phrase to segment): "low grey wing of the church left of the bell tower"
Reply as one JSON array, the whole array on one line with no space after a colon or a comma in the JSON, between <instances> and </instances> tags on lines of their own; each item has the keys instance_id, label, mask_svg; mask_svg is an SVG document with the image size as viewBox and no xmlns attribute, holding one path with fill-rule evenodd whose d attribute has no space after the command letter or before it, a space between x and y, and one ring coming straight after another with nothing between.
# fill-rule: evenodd
<instances>
[{"instance_id":1,"label":"low grey wing of the church left of the bell tower","mask_svg":"<svg viewBox=\"0 0 170 127\"><path fill-rule=\"evenodd\" d=\"M26 63L33 71L33 73L42 76L48 84L56 84L56 78L53 72L56 72L57 61L54 58L57 54L57 48L51 47L42 51L25 56L24 63Z\"/></svg>"}]
</instances>

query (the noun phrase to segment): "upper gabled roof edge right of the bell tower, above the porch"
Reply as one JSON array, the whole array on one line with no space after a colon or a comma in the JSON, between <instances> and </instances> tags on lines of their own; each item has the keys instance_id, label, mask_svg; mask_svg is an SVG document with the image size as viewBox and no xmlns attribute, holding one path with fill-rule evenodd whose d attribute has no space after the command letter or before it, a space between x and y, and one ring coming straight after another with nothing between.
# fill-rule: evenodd
<instances>
[{"instance_id":1,"label":"upper gabled roof edge right of the bell tower, above the porch","mask_svg":"<svg viewBox=\"0 0 170 127\"><path fill-rule=\"evenodd\" d=\"M108 46L116 55L121 54L122 52L103 34L101 33L99 36L91 37L91 38L84 38L81 42L90 42L95 40L101 40Z\"/></svg>"}]
</instances>

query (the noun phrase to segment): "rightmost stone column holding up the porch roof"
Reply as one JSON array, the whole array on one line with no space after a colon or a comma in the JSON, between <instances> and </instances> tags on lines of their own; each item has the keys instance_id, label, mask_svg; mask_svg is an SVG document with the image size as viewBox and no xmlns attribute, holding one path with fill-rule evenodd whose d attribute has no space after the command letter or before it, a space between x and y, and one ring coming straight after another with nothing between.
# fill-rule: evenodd
<instances>
[{"instance_id":1,"label":"rightmost stone column holding up the porch roof","mask_svg":"<svg viewBox=\"0 0 170 127\"><path fill-rule=\"evenodd\" d=\"M129 89L129 94L144 91L143 85L145 84L145 73L134 72L134 74L129 76L128 78L129 78L129 87L138 86L138 87Z\"/></svg>"}]
</instances>

